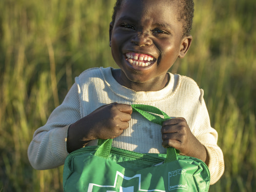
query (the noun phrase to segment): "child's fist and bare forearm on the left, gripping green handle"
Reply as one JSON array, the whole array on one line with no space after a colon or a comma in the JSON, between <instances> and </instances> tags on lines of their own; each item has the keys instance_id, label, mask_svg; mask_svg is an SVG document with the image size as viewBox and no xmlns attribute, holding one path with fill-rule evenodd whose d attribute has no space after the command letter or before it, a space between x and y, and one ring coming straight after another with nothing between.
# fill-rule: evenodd
<instances>
[{"instance_id":1,"label":"child's fist and bare forearm on the left, gripping green handle","mask_svg":"<svg viewBox=\"0 0 256 192\"><path fill-rule=\"evenodd\" d=\"M67 151L71 153L94 139L119 136L128 128L132 111L131 105L111 103L81 118L68 129Z\"/></svg>"}]
</instances>

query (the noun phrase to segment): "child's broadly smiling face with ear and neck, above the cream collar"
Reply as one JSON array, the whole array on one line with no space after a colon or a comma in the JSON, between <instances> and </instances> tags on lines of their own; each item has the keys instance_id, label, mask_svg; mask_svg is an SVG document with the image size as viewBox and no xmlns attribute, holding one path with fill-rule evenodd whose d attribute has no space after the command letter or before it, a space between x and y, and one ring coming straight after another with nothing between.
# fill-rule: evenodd
<instances>
[{"instance_id":1,"label":"child's broadly smiling face with ear and neck, above the cream collar","mask_svg":"<svg viewBox=\"0 0 256 192\"><path fill-rule=\"evenodd\" d=\"M123 82L155 82L163 88L167 71L178 57L185 56L192 39L182 38L176 10L170 0L123 0L110 25L112 56Z\"/></svg>"}]
</instances>

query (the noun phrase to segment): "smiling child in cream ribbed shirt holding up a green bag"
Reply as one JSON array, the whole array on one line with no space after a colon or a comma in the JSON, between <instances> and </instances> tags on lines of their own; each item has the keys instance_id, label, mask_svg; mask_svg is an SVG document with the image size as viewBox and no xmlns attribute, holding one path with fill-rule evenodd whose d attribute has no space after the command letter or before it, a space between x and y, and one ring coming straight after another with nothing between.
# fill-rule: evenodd
<instances>
[{"instance_id":1,"label":"smiling child in cream ribbed shirt holding up a green bag","mask_svg":"<svg viewBox=\"0 0 256 192\"><path fill-rule=\"evenodd\" d=\"M34 134L28 156L35 169L64 164L66 156L97 139L138 153L181 154L206 162L211 184L224 172L203 90L189 77L167 71L192 41L193 0L117 0L110 47L120 69L92 68L76 77L63 103ZM177 118L159 125L132 113L131 104L152 105Z\"/></svg>"}]
</instances>

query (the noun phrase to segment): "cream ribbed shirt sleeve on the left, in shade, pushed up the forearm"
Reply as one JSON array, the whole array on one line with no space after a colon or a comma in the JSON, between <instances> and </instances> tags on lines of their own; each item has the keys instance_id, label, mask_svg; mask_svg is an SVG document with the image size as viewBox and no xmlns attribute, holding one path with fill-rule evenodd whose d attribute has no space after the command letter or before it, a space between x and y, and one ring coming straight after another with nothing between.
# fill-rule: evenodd
<instances>
[{"instance_id":1,"label":"cream ribbed shirt sleeve on the left, in shade, pushed up the forearm","mask_svg":"<svg viewBox=\"0 0 256 192\"><path fill-rule=\"evenodd\" d=\"M34 169L52 169L64 164L68 155L68 128L80 118L78 88L74 84L62 104L52 112L47 123L33 135L28 147L28 158Z\"/></svg>"}]
</instances>

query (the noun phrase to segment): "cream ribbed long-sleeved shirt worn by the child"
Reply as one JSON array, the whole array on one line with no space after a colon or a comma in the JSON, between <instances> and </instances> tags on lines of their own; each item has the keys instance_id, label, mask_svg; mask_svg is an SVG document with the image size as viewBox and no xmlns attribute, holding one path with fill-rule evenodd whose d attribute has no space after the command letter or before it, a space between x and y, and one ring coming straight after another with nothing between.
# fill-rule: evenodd
<instances>
[{"instance_id":1,"label":"cream ribbed long-sleeved shirt worn by the child","mask_svg":"<svg viewBox=\"0 0 256 192\"><path fill-rule=\"evenodd\" d=\"M98 107L113 102L152 105L173 117L184 117L197 139L209 154L211 184L224 172L224 160L217 146L217 132L210 125L203 91L189 77L169 73L167 86L156 92L135 92L121 86L111 73L112 68L92 68L76 77L62 104L50 115L47 123L36 130L28 148L28 157L35 169L51 169L64 164L68 155L66 137L69 125ZM100 120L100 117L99 117ZM137 113L130 126L113 140L113 147L138 153L166 153L161 145L161 127ZM85 125L86 126L86 125ZM91 141L88 145L96 145Z\"/></svg>"}]
</instances>

